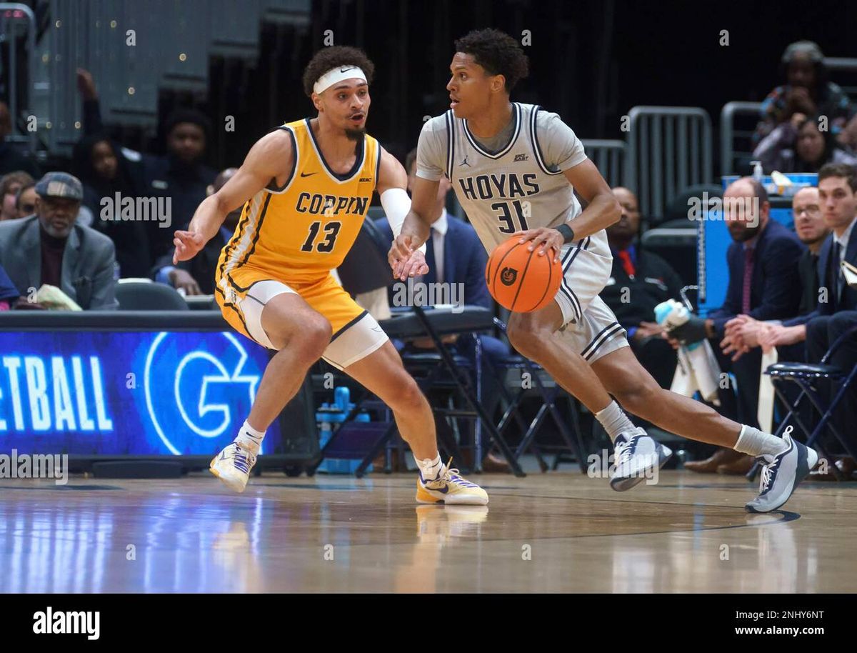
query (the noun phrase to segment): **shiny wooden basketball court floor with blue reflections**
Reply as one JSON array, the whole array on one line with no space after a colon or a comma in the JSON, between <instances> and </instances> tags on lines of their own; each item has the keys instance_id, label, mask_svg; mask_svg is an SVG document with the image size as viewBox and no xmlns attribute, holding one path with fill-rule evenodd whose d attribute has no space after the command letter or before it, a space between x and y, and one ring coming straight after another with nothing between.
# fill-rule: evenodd
<instances>
[{"instance_id":1,"label":"shiny wooden basketball court floor with blue reflections","mask_svg":"<svg viewBox=\"0 0 857 653\"><path fill-rule=\"evenodd\" d=\"M476 478L489 506L417 506L415 476L0 482L0 592L832 592L857 584L857 484L767 515L741 477Z\"/></svg>"}]
</instances>

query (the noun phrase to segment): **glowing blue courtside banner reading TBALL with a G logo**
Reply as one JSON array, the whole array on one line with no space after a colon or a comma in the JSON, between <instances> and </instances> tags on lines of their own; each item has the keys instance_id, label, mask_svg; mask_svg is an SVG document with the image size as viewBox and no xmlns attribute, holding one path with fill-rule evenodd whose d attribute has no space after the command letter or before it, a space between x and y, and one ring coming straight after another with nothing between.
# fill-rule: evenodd
<instances>
[{"instance_id":1,"label":"glowing blue courtside banner reading TBALL with a G logo","mask_svg":"<svg viewBox=\"0 0 857 653\"><path fill-rule=\"evenodd\" d=\"M0 449L214 455L246 419L267 361L231 332L3 332ZM275 421L262 453L279 444Z\"/></svg>"}]
</instances>

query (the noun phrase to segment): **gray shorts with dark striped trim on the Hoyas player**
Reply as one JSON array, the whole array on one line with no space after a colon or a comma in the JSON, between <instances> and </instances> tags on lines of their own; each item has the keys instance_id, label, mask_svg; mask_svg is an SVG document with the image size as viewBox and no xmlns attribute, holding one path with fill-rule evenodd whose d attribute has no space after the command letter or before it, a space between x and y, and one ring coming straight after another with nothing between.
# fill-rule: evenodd
<instances>
[{"instance_id":1,"label":"gray shorts with dark striped trim on the Hoyas player","mask_svg":"<svg viewBox=\"0 0 857 653\"><path fill-rule=\"evenodd\" d=\"M560 332L587 361L628 346L613 311L598 297L610 278L613 259L592 247L590 238L562 250L563 279L554 301L562 310Z\"/></svg>"}]
</instances>

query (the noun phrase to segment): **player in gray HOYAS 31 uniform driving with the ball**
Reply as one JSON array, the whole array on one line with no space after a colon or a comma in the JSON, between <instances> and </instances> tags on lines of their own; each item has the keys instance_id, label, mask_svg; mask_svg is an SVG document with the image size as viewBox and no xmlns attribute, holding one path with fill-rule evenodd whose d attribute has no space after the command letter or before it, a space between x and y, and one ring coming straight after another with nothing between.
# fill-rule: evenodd
<instances>
[{"instance_id":1,"label":"player in gray HOYAS 31 uniform driving with the ball","mask_svg":"<svg viewBox=\"0 0 857 653\"><path fill-rule=\"evenodd\" d=\"M658 386L598 297L612 261L604 230L620 217L607 183L560 117L510 101L512 87L528 73L517 41L484 29L458 39L455 49L446 85L450 111L424 125L411 209L402 225L392 225L394 275L404 280L428 271L418 248L428 239L438 180L446 175L489 253L514 236L530 241L537 255L562 262L564 279L554 302L512 313L508 336L602 423L614 441L614 489L632 488L671 455L634 427L621 405L686 438L763 458L760 492L746 509L782 506L818 454L788 434L780 439L733 422ZM586 202L583 210L575 191Z\"/></svg>"}]
</instances>

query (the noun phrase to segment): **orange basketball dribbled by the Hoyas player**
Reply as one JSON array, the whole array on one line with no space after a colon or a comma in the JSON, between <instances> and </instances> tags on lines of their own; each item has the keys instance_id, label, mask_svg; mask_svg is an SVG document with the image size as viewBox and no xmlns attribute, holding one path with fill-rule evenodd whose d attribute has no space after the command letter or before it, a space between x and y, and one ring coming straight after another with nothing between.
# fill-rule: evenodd
<instances>
[{"instance_id":1,"label":"orange basketball dribbled by the Hoyas player","mask_svg":"<svg viewBox=\"0 0 857 653\"><path fill-rule=\"evenodd\" d=\"M530 244L532 241L520 243L520 237L509 238L491 252L485 267L491 297L516 313L543 309L553 301L562 282L562 265L554 262L554 250L539 256L542 246L530 252Z\"/></svg>"}]
</instances>

